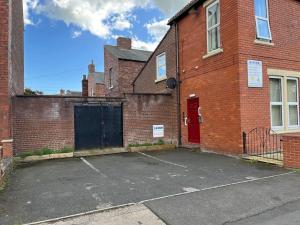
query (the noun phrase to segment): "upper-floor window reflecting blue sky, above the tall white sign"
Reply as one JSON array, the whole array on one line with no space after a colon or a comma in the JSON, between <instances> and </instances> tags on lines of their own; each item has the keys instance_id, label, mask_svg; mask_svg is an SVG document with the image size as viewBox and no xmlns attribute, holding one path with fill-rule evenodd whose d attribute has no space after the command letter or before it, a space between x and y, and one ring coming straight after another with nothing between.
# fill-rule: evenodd
<instances>
[{"instance_id":1,"label":"upper-floor window reflecting blue sky, above the tall white sign","mask_svg":"<svg viewBox=\"0 0 300 225\"><path fill-rule=\"evenodd\" d=\"M256 35L263 40L272 40L268 0L254 0Z\"/></svg>"}]
</instances>

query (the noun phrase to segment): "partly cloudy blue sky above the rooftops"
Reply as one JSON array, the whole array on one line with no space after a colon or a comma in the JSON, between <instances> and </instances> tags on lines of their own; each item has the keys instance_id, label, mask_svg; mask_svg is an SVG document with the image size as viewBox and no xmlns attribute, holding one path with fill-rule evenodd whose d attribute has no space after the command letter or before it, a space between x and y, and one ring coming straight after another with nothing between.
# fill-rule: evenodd
<instances>
[{"instance_id":1,"label":"partly cloudy blue sky above the rooftops","mask_svg":"<svg viewBox=\"0 0 300 225\"><path fill-rule=\"evenodd\" d=\"M106 44L130 37L136 49L153 51L167 21L189 0L23 0L25 87L57 94L81 90L93 60L103 71Z\"/></svg>"}]
</instances>

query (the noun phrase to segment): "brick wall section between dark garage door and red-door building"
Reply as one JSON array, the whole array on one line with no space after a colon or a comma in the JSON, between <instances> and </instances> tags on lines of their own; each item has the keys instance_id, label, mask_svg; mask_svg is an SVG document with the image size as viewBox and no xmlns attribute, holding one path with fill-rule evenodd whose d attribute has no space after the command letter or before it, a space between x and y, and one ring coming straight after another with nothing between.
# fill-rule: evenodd
<instances>
[{"instance_id":1,"label":"brick wall section between dark garage door and red-door building","mask_svg":"<svg viewBox=\"0 0 300 225\"><path fill-rule=\"evenodd\" d=\"M128 94L124 103L124 144L153 143L163 139L177 144L177 108L174 95ZM153 125L165 126L164 138L153 138Z\"/></svg>"}]
</instances>

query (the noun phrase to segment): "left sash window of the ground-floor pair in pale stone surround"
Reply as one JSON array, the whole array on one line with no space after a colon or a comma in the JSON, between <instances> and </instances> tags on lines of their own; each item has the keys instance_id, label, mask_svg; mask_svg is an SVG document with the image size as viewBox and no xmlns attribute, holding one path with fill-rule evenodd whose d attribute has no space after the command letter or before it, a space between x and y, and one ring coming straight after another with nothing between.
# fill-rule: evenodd
<instances>
[{"instance_id":1,"label":"left sash window of the ground-floor pair in pale stone surround","mask_svg":"<svg viewBox=\"0 0 300 225\"><path fill-rule=\"evenodd\" d=\"M275 130L284 126L283 115L283 79L281 77L270 78L270 101L271 101L271 123Z\"/></svg>"}]
</instances>

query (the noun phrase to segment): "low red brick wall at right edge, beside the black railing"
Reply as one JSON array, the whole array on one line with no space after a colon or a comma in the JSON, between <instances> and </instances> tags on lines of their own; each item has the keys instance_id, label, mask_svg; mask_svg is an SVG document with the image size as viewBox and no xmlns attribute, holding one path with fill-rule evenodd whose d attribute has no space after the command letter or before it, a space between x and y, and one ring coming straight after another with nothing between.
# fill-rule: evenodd
<instances>
[{"instance_id":1,"label":"low red brick wall at right edge, beside the black railing","mask_svg":"<svg viewBox=\"0 0 300 225\"><path fill-rule=\"evenodd\" d=\"M300 168L300 134L283 135L283 161L286 168Z\"/></svg>"}]
</instances>

